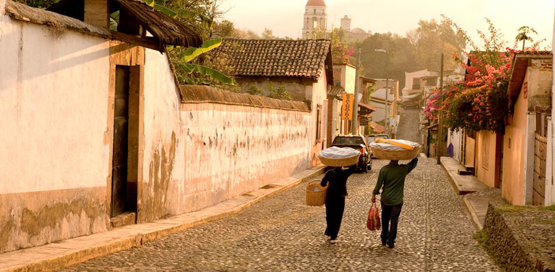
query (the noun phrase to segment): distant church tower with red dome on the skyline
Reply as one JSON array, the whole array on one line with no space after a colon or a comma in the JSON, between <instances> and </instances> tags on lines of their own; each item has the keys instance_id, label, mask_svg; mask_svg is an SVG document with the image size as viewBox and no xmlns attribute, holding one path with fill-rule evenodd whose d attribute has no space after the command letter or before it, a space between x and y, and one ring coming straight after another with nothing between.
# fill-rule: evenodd
<instances>
[{"instance_id":1,"label":"distant church tower with red dome on the skyline","mask_svg":"<svg viewBox=\"0 0 555 272\"><path fill-rule=\"evenodd\" d=\"M308 0L304 10L303 38L314 38L318 30L328 29L328 12L324 0Z\"/></svg>"}]
</instances>

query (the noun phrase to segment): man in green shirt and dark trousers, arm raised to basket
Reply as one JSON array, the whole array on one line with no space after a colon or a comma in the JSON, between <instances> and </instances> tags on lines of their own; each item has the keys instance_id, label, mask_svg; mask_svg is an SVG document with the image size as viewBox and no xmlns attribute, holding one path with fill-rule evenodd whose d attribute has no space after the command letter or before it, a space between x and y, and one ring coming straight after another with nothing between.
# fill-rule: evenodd
<instances>
[{"instance_id":1,"label":"man in green shirt and dark trousers, arm raised to basket","mask_svg":"<svg viewBox=\"0 0 555 272\"><path fill-rule=\"evenodd\" d=\"M389 248L395 247L395 238L397 238L397 223L399 223L399 214L403 206L403 191L405 186L405 177L415 169L418 158L412 159L408 164L399 164L397 160L392 160L386 166L380 169L378 182L372 194L372 202L375 202L375 195L380 194L382 190L382 245L388 245ZM389 228L391 221L391 229Z\"/></svg>"}]
</instances>

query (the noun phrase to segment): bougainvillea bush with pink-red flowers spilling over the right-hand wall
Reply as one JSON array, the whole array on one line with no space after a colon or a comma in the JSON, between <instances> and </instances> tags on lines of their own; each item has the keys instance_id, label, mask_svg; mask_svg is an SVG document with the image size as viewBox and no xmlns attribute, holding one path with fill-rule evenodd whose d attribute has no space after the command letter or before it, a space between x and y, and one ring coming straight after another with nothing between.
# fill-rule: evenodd
<instances>
[{"instance_id":1,"label":"bougainvillea bush with pink-red flowers spilling over the right-hand wall","mask_svg":"<svg viewBox=\"0 0 555 272\"><path fill-rule=\"evenodd\" d=\"M467 42L475 50L464 52L468 56L468 62L460 62L467 71L465 81L447 84L443 88L441 110L445 125L451 129L504 132L504 119L508 114L510 60L515 50L504 48L506 42L502 35L487 19L489 37L478 32L484 40L482 50L478 50L466 32L448 18L447 20L467 38ZM454 58L458 60L456 55ZM439 98L439 90L432 92L424 110L432 121L438 118Z\"/></svg>"}]
</instances>

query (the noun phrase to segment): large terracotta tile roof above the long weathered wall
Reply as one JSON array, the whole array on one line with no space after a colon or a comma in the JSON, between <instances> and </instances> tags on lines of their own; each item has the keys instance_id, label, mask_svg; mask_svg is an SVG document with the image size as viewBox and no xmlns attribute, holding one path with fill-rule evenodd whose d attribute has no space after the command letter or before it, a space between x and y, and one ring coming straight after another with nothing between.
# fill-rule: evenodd
<instances>
[{"instance_id":1,"label":"large terracotta tile roof above the long weathered wall","mask_svg":"<svg viewBox=\"0 0 555 272\"><path fill-rule=\"evenodd\" d=\"M333 83L330 40L224 39L237 77L305 77L318 80L325 67Z\"/></svg>"}]
</instances>

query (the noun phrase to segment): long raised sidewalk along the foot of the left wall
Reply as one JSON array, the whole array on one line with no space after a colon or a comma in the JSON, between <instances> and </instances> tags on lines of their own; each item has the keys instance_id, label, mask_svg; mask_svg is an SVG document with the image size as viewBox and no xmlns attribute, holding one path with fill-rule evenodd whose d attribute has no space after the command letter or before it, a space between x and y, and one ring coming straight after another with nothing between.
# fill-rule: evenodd
<instances>
[{"instance_id":1,"label":"long raised sidewalk along the foot of the left wall","mask_svg":"<svg viewBox=\"0 0 555 272\"><path fill-rule=\"evenodd\" d=\"M238 212L282 190L323 174L324 167L315 166L197 212L0 254L0 271L51 271L130 247L139 247L149 240Z\"/></svg>"}]
</instances>

